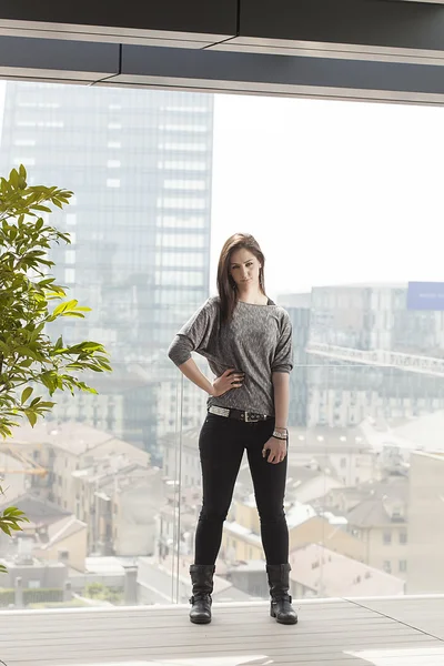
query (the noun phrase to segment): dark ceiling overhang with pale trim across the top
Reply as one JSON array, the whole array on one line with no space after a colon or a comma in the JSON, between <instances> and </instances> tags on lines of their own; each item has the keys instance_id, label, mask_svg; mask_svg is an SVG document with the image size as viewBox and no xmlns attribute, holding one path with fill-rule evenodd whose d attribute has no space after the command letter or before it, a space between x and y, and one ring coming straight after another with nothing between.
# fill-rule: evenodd
<instances>
[{"instance_id":1,"label":"dark ceiling overhang with pale trim across the top","mask_svg":"<svg viewBox=\"0 0 444 666\"><path fill-rule=\"evenodd\" d=\"M401 0L2 0L0 77L444 102L444 7Z\"/></svg>"}]
</instances>

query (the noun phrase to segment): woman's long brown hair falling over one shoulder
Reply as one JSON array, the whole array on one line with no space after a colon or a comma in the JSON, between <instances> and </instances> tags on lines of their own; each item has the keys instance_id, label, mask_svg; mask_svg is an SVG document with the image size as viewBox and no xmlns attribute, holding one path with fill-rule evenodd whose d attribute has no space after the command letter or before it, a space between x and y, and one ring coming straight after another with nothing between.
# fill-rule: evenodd
<instances>
[{"instance_id":1,"label":"woman's long brown hair falling over one shoulder","mask_svg":"<svg viewBox=\"0 0 444 666\"><path fill-rule=\"evenodd\" d=\"M265 258L255 240L250 233L235 233L225 241L218 264L218 291L221 301L221 323L228 323L233 316L234 309L238 304L238 289L235 282L230 274L230 263L233 252L236 250L249 250L258 261L262 269L259 272L259 285L261 292L265 295L265 278L264 265Z\"/></svg>"}]
</instances>

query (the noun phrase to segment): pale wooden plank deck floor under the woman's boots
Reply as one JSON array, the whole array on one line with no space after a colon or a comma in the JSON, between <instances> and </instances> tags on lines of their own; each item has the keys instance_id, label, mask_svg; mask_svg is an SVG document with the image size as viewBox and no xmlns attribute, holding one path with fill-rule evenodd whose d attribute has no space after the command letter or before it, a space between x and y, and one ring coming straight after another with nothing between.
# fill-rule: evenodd
<instances>
[{"instance_id":1,"label":"pale wooden plank deck floor under the woman's boots","mask_svg":"<svg viewBox=\"0 0 444 666\"><path fill-rule=\"evenodd\" d=\"M295 604L297 626L268 605L214 605L194 626L183 606L0 613L7 666L443 666L444 597Z\"/></svg>"}]
</instances>

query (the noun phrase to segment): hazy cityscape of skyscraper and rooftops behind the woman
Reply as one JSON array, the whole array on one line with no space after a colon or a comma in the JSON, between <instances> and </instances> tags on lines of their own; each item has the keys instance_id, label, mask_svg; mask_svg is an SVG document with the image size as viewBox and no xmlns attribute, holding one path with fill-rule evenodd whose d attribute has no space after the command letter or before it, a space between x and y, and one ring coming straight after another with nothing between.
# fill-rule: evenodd
<instances>
[{"instance_id":1,"label":"hazy cityscape of skyscraper and rooftops behind the woman","mask_svg":"<svg viewBox=\"0 0 444 666\"><path fill-rule=\"evenodd\" d=\"M297 102L286 100L282 117L289 104L296 113ZM234 113L225 118L235 123ZM0 606L186 602L205 396L165 352L214 293L220 242L236 231L233 220L223 223L236 205L220 178L226 154L218 102L203 93L8 82L2 119L0 173L22 163L31 184L74 192L67 211L51 214L72 240L53 249L54 275L92 312L48 333L102 342L113 373L91 380L98 396L60 394L51 415L2 444L2 505L30 522L13 538L0 536L8 567ZM251 164L254 172L258 160ZM265 183L275 188L270 199L281 195L278 181L279 173ZM258 196L266 199L265 185L258 183ZM302 251L302 222L293 246L283 243L291 211L279 224L270 219L274 232L239 215L241 231L273 238L270 295L293 325L286 515L294 598L444 592L444 312L412 306L408 286L435 279L433 271L425 263L424 275L408 276L404 258L396 275L394 262L387 268L373 253L372 262L362 258L371 280L352 268L342 280L341 262L332 270L337 282L324 282L331 229L317 245L307 232ZM279 265L283 252L290 268ZM372 253L359 246L355 254ZM245 464L214 598L268 595Z\"/></svg>"}]
</instances>

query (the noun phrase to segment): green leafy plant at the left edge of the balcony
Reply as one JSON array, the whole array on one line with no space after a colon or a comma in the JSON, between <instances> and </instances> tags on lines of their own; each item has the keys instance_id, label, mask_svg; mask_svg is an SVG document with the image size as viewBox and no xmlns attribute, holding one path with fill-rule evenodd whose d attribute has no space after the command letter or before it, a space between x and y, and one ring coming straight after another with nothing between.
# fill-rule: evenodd
<instances>
[{"instance_id":1,"label":"green leafy plant at the left edge of the balcony","mask_svg":"<svg viewBox=\"0 0 444 666\"><path fill-rule=\"evenodd\" d=\"M34 426L56 405L48 397L57 391L97 393L80 373L111 371L100 343L65 345L47 334L59 317L84 317L90 311L64 300L65 290L50 275L51 246L71 241L44 218L71 196L68 190L28 185L23 165L0 179L0 440L11 437L23 418ZM10 507L0 515L0 529L11 534L23 521Z\"/></svg>"}]
</instances>

